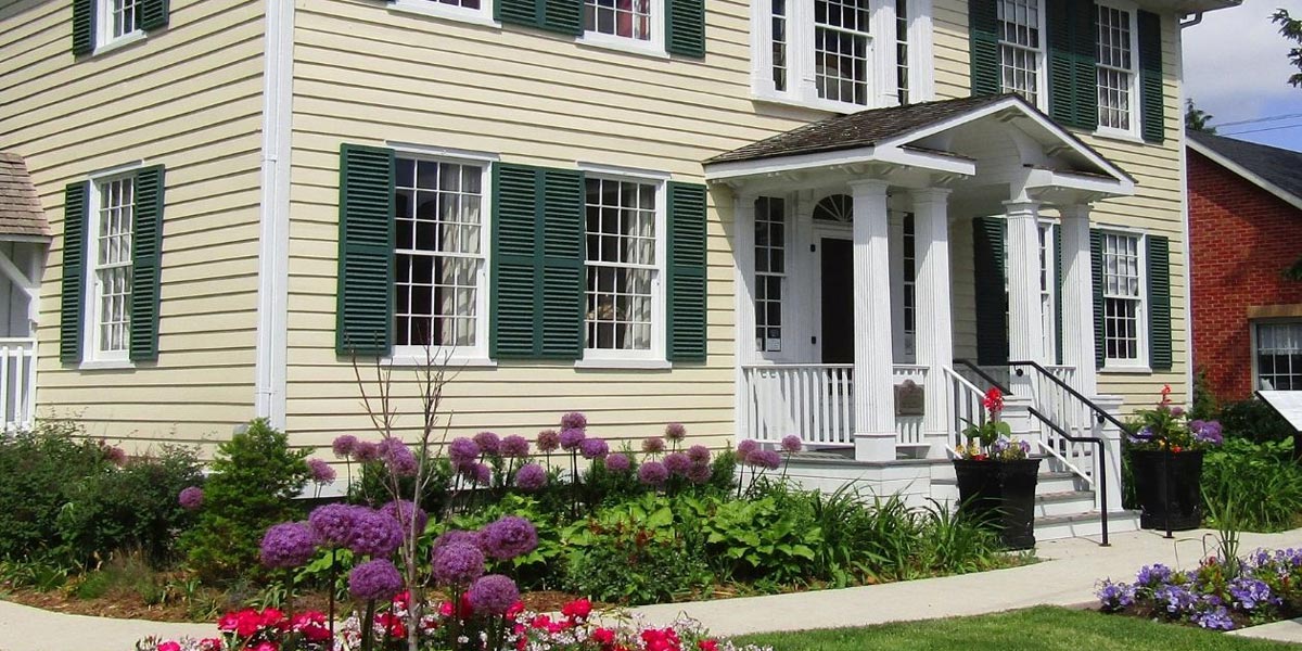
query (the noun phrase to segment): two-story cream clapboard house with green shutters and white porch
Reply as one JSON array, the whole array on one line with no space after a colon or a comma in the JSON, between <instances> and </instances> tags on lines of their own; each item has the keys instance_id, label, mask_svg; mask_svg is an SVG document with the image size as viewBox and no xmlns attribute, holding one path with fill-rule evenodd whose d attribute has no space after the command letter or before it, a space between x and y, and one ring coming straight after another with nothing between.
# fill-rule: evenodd
<instances>
[{"instance_id":1,"label":"two-story cream clapboard house with green shutters and white porch","mask_svg":"<svg viewBox=\"0 0 1302 651\"><path fill-rule=\"evenodd\" d=\"M1178 22L1232 4L8 3L38 411L323 445L354 359L414 414L432 353L453 435L798 434L926 492L1000 384L1092 486L1061 432L1187 393Z\"/></svg>"}]
</instances>

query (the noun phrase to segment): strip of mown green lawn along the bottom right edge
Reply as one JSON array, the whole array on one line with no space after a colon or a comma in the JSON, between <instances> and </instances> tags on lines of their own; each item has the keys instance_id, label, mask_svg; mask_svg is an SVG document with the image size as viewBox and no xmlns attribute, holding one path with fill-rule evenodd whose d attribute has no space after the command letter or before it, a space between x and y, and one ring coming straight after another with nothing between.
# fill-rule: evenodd
<instances>
[{"instance_id":1,"label":"strip of mown green lawn along the bottom right edge","mask_svg":"<svg viewBox=\"0 0 1302 651\"><path fill-rule=\"evenodd\" d=\"M954 617L859 629L747 635L738 642L775 651L1266 651L1302 646L1245 639L1090 611L1038 607L978 617Z\"/></svg>"}]
</instances>

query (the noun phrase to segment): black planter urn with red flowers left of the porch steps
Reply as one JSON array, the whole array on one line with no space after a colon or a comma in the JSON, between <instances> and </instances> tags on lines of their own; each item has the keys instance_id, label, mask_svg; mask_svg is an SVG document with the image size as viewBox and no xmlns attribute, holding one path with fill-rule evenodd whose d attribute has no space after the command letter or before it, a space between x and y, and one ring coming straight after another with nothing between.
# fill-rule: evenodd
<instances>
[{"instance_id":1,"label":"black planter urn with red flowers left of the porch steps","mask_svg":"<svg viewBox=\"0 0 1302 651\"><path fill-rule=\"evenodd\" d=\"M1035 547L1035 483L1040 460L954 460L958 513L999 531L1009 549Z\"/></svg>"}]
</instances>

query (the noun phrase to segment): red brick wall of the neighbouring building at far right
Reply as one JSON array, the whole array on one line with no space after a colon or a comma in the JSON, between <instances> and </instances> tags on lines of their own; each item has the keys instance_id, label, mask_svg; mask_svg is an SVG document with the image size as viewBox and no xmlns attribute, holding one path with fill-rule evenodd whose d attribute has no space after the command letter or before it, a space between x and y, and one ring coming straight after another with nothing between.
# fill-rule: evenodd
<instances>
[{"instance_id":1,"label":"red brick wall of the neighbouring building at far right","mask_svg":"<svg viewBox=\"0 0 1302 651\"><path fill-rule=\"evenodd\" d=\"M1221 400L1253 392L1249 307L1302 303L1302 211L1189 151L1194 368Z\"/></svg>"}]
</instances>

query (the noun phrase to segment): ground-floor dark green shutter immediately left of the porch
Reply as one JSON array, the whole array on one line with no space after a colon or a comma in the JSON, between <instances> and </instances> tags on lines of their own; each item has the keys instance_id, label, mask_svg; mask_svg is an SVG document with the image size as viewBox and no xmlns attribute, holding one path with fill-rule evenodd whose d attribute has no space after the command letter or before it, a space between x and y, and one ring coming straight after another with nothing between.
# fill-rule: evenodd
<instances>
[{"instance_id":1,"label":"ground-floor dark green shutter immediately left of the porch","mask_svg":"<svg viewBox=\"0 0 1302 651\"><path fill-rule=\"evenodd\" d=\"M706 361L706 186L669 184L671 362Z\"/></svg>"}]
</instances>

